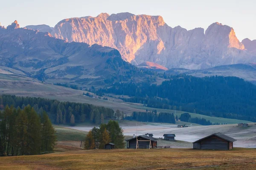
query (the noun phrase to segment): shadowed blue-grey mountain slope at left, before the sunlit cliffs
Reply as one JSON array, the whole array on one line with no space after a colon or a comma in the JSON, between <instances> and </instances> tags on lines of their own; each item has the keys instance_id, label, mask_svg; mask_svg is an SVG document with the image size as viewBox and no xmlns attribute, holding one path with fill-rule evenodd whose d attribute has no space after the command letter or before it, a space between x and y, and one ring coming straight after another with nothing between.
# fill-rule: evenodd
<instances>
[{"instance_id":1,"label":"shadowed blue-grey mountain slope at left, before the sunlit cliffs","mask_svg":"<svg viewBox=\"0 0 256 170\"><path fill-rule=\"evenodd\" d=\"M68 43L49 33L20 28L17 21L0 27L0 42L0 66L47 82L93 85L131 70L116 49Z\"/></svg>"}]
</instances>

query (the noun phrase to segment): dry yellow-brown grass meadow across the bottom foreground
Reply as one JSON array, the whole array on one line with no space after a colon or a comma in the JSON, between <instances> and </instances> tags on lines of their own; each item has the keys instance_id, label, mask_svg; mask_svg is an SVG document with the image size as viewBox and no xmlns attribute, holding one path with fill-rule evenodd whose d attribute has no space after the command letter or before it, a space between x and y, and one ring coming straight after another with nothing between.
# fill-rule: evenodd
<instances>
[{"instance_id":1,"label":"dry yellow-brown grass meadow across the bottom foreground","mask_svg":"<svg viewBox=\"0 0 256 170\"><path fill-rule=\"evenodd\" d=\"M255 170L256 149L80 150L0 158L1 170Z\"/></svg>"}]
</instances>

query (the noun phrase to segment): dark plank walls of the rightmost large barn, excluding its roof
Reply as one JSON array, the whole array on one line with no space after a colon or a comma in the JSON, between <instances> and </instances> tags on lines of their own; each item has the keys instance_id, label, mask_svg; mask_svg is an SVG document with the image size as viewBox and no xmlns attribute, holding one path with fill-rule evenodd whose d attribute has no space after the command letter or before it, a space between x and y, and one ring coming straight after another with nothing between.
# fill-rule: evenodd
<instances>
[{"instance_id":1,"label":"dark plank walls of the rightmost large barn, excluding its roof","mask_svg":"<svg viewBox=\"0 0 256 170\"><path fill-rule=\"evenodd\" d=\"M229 150L229 142L217 136L201 140L201 149Z\"/></svg>"}]
</instances>

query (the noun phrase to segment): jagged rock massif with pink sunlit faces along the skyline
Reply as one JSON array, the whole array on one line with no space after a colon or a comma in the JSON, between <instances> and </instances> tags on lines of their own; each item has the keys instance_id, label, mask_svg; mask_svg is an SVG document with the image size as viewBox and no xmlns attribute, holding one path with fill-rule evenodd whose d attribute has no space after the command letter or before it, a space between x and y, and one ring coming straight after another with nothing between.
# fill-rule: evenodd
<instances>
[{"instance_id":1,"label":"jagged rock massif with pink sunlit faces along the skyline","mask_svg":"<svg viewBox=\"0 0 256 170\"><path fill-rule=\"evenodd\" d=\"M233 28L213 23L203 28L171 28L161 16L131 13L99 14L61 20L52 36L67 42L86 42L116 48L134 65L154 62L166 68L210 68L255 62Z\"/></svg>"}]
</instances>

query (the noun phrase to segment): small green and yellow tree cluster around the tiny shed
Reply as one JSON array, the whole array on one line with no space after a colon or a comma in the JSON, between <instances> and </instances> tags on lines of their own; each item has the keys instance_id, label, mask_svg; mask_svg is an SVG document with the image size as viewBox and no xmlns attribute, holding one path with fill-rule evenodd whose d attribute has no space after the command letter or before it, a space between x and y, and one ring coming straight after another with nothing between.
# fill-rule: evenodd
<instances>
[{"instance_id":1,"label":"small green and yellow tree cluster around the tiny shed","mask_svg":"<svg viewBox=\"0 0 256 170\"><path fill-rule=\"evenodd\" d=\"M115 148L124 148L123 130L118 122L110 120L108 124L102 123L99 128L93 127L84 140L84 149L95 149L96 142L99 142L99 149L109 142L115 144Z\"/></svg>"}]
</instances>

